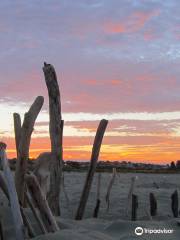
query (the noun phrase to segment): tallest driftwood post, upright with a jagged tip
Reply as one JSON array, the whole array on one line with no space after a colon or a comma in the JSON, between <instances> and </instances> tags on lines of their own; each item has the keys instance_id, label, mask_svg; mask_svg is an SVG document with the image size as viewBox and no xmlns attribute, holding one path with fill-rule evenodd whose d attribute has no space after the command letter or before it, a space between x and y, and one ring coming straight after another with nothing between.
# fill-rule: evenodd
<instances>
[{"instance_id":1,"label":"tallest driftwood post, upright with a jagged tip","mask_svg":"<svg viewBox=\"0 0 180 240\"><path fill-rule=\"evenodd\" d=\"M49 94L49 132L51 139L51 167L50 191L48 194L49 206L55 216L60 215L59 195L63 164L63 120L61 116L61 99L56 72L51 64L44 63L43 67L46 86Z\"/></svg>"}]
</instances>

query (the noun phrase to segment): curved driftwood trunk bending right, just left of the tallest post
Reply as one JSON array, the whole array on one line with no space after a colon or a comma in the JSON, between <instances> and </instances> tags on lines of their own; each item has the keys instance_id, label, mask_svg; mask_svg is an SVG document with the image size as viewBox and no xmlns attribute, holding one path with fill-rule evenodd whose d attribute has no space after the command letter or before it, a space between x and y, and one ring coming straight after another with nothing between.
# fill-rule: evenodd
<instances>
[{"instance_id":1,"label":"curved driftwood trunk bending right, just left of the tallest post","mask_svg":"<svg viewBox=\"0 0 180 240\"><path fill-rule=\"evenodd\" d=\"M23 125L21 128L21 137L18 146L18 159L16 163L15 184L16 190L21 204L24 204L25 191L25 174L27 171L27 163L29 158L29 145L31 134L34 128L36 118L42 108L44 98L39 96L36 98L29 111L25 113ZM18 144L18 141L17 141Z\"/></svg>"}]
</instances>

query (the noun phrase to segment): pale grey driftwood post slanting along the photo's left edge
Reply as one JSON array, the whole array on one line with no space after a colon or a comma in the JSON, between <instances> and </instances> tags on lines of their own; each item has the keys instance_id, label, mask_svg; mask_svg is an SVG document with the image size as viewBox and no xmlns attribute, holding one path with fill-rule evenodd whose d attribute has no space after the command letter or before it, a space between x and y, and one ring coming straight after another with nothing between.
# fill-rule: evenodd
<instances>
[{"instance_id":1,"label":"pale grey driftwood post slanting along the photo's left edge","mask_svg":"<svg viewBox=\"0 0 180 240\"><path fill-rule=\"evenodd\" d=\"M24 240L24 225L23 219L21 216L20 206L17 198L17 193L14 185L14 179L11 174L11 170L8 165L7 156L5 153L6 145L1 143L0 144L0 163L2 165L2 169L4 172L4 177L7 183L9 201L11 206L12 218L14 222L15 232L16 232L16 239L17 240Z\"/></svg>"}]
</instances>

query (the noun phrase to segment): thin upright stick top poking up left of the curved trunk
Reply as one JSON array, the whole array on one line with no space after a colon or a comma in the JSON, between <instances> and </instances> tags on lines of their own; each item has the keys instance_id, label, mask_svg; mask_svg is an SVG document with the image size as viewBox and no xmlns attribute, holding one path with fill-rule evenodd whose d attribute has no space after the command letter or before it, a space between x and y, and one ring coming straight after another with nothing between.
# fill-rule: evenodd
<instances>
[{"instance_id":1,"label":"thin upright stick top poking up left of the curved trunk","mask_svg":"<svg viewBox=\"0 0 180 240\"><path fill-rule=\"evenodd\" d=\"M15 141L16 141L16 152L18 156L18 148L21 139L21 117L19 113L14 113L14 133L15 133Z\"/></svg>"}]
</instances>

